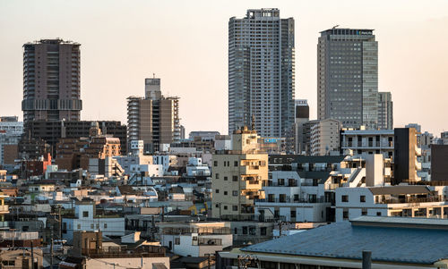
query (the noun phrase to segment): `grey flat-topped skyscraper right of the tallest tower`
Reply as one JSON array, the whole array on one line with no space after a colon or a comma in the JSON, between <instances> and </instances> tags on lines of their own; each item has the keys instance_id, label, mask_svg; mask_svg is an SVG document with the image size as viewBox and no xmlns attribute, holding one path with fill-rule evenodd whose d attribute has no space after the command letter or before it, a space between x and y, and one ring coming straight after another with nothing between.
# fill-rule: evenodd
<instances>
[{"instance_id":1,"label":"grey flat-topped skyscraper right of the tallest tower","mask_svg":"<svg viewBox=\"0 0 448 269\"><path fill-rule=\"evenodd\" d=\"M373 29L327 29L317 44L317 118L378 125L378 42Z\"/></svg>"}]
</instances>

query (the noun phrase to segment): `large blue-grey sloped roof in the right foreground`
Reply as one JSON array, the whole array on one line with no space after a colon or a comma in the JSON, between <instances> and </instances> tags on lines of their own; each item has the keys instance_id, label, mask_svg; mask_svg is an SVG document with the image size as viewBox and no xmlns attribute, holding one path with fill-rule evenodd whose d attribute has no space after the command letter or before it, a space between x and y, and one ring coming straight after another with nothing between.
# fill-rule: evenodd
<instances>
[{"instance_id":1,"label":"large blue-grey sloped roof in the right foreground","mask_svg":"<svg viewBox=\"0 0 448 269\"><path fill-rule=\"evenodd\" d=\"M362 251L370 250L373 261L430 265L448 258L448 231L358 226L347 221L266 241L241 250L343 259L362 259Z\"/></svg>"}]
</instances>

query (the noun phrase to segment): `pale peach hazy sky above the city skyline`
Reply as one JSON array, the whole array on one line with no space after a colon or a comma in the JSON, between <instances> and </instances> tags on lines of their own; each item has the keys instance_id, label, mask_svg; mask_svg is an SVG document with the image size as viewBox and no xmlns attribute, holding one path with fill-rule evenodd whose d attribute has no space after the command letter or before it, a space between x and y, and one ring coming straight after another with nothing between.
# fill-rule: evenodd
<instances>
[{"instance_id":1,"label":"pale peach hazy sky above the city skyline","mask_svg":"<svg viewBox=\"0 0 448 269\"><path fill-rule=\"evenodd\" d=\"M448 130L448 1L414 0L0 0L0 115L22 118L22 45L42 38L81 43L82 120L126 123L126 97L144 79L180 97L181 123L228 129L228 19L279 8L295 19L296 98L316 116L319 32L375 29L379 90L391 91L394 126Z\"/></svg>"}]
</instances>

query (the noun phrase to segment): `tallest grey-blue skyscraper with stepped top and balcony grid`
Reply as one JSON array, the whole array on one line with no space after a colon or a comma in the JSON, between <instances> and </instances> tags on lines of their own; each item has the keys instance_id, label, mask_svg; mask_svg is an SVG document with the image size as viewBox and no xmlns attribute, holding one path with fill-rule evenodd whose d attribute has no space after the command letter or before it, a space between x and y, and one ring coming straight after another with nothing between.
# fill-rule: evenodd
<instances>
[{"instance_id":1,"label":"tallest grey-blue skyscraper with stepped top and balcony grid","mask_svg":"<svg viewBox=\"0 0 448 269\"><path fill-rule=\"evenodd\" d=\"M228 21L228 132L250 126L282 137L294 123L294 19L250 9Z\"/></svg>"}]
</instances>

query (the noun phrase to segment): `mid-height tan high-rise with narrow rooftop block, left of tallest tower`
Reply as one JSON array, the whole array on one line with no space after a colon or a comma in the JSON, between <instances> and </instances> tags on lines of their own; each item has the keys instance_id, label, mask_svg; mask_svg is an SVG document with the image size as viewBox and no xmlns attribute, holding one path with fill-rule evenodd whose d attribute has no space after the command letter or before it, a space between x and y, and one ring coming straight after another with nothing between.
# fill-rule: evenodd
<instances>
[{"instance_id":1,"label":"mid-height tan high-rise with narrow rooftop block, left of tallest tower","mask_svg":"<svg viewBox=\"0 0 448 269\"><path fill-rule=\"evenodd\" d=\"M162 96L155 78L145 80L145 94L127 98L127 136L143 140L144 152L155 152L180 139L179 98Z\"/></svg>"}]
</instances>

